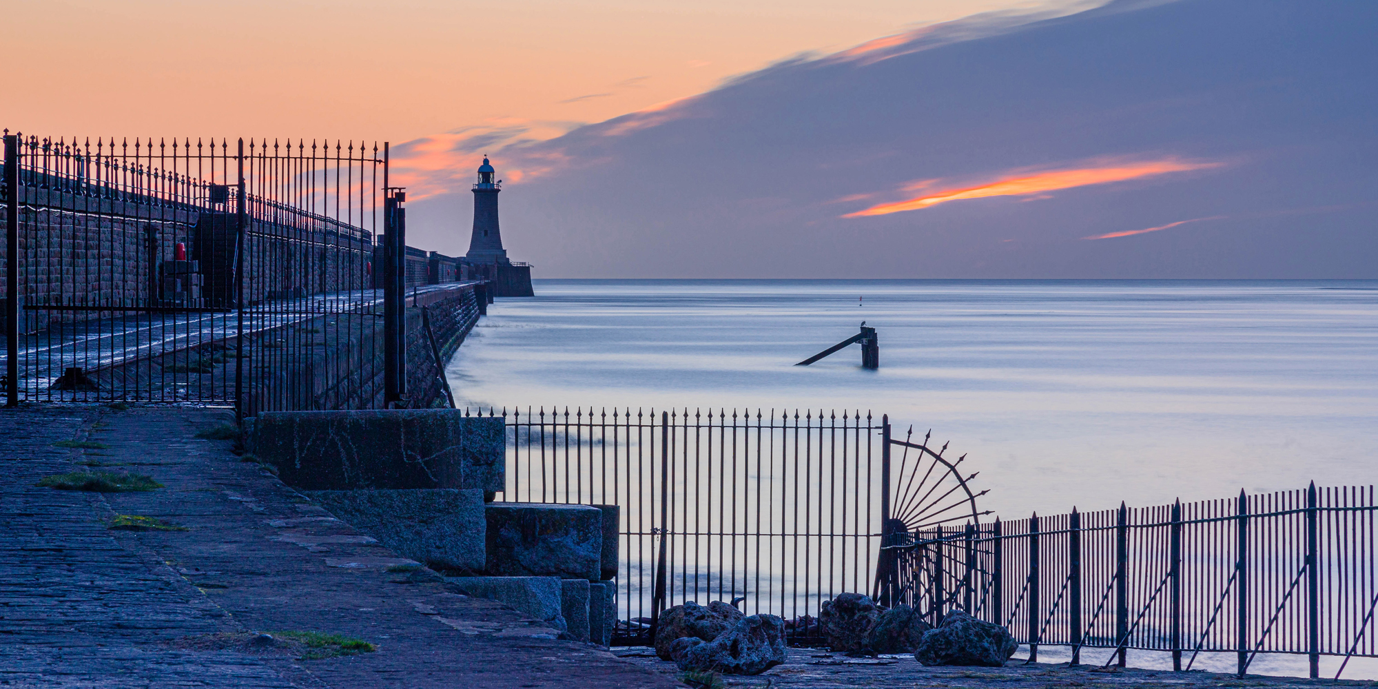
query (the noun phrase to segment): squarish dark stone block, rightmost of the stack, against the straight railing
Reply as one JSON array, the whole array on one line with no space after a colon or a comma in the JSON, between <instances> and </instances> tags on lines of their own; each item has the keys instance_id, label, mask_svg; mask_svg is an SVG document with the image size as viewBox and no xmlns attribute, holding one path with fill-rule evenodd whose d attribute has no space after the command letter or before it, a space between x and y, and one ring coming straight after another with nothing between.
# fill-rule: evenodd
<instances>
[{"instance_id":1,"label":"squarish dark stone block, rightmost of the stack, against the straight railing","mask_svg":"<svg viewBox=\"0 0 1378 689\"><path fill-rule=\"evenodd\" d=\"M601 579L604 513L587 504L489 503L492 576Z\"/></svg>"}]
</instances>

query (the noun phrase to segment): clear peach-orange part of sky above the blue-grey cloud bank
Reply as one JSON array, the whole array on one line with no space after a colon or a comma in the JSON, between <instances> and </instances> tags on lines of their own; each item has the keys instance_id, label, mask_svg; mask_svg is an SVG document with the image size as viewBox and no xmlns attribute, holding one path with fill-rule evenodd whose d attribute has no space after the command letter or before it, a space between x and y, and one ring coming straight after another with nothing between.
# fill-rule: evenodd
<instances>
[{"instance_id":1,"label":"clear peach-orange part of sky above the blue-grey cloud bank","mask_svg":"<svg viewBox=\"0 0 1378 689\"><path fill-rule=\"evenodd\" d=\"M802 52L1098 0L6 0L40 135L550 138ZM502 136L499 136L502 141Z\"/></svg>"}]
</instances>

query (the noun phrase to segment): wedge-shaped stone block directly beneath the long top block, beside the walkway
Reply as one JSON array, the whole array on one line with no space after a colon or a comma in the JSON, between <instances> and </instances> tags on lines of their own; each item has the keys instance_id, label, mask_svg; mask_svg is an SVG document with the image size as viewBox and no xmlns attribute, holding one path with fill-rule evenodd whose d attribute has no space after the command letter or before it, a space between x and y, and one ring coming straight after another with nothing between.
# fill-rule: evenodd
<instances>
[{"instance_id":1,"label":"wedge-shaped stone block directly beneath the long top block, beside the walkway","mask_svg":"<svg viewBox=\"0 0 1378 689\"><path fill-rule=\"evenodd\" d=\"M484 569L482 491L311 491L306 496L394 553L431 569Z\"/></svg>"}]
</instances>

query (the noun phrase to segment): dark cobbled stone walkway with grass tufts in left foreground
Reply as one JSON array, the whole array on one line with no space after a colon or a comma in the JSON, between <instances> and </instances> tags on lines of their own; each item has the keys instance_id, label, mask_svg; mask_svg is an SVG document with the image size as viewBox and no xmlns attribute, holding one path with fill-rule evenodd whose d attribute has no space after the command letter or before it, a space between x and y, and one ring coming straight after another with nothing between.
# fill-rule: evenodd
<instances>
[{"instance_id":1,"label":"dark cobbled stone walkway with grass tufts in left foreground","mask_svg":"<svg viewBox=\"0 0 1378 689\"><path fill-rule=\"evenodd\" d=\"M595 646L532 635L532 620L429 570L389 572L408 561L241 462L229 441L194 437L225 420L174 407L0 411L0 685L682 686ZM34 485L91 469L164 488ZM187 531L109 529L119 514ZM280 646L282 633L376 650L303 660Z\"/></svg>"}]
</instances>

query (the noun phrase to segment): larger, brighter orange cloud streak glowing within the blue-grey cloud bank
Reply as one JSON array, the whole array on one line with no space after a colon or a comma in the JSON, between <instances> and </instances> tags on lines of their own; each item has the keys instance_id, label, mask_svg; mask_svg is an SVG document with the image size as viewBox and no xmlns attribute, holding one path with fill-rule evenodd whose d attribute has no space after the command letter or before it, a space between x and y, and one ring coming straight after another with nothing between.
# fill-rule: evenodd
<instances>
[{"instance_id":1,"label":"larger, brighter orange cloud streak glowing within the blue-grey cloud bank","mask_svg":"<svg viewBox=\"0 0 1378 689\"><path fill-rule=\"evenodd\" d=\"M843 218L865 218L870 215L889 215L904 211L918 211L930 205L965 198L987 198L992 196L1038 196L1058 189L1072 189L1078 186L1105 185L1111 182L1124 182L1146 176L1166 175L1169 172L1186 172L1192 169L1206 169L1220 167L1221 163L1189 163L1177 158L1148 160L1137 163L1105 163L1097 167L1049 169L1043 172L1007 176L985 185L962 189L944 189L932 194L872 205L871 208L843 215Z\"/></svg>"}]
</instances>

